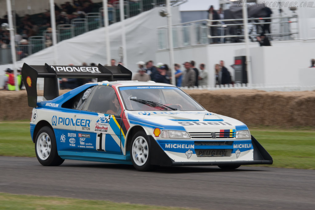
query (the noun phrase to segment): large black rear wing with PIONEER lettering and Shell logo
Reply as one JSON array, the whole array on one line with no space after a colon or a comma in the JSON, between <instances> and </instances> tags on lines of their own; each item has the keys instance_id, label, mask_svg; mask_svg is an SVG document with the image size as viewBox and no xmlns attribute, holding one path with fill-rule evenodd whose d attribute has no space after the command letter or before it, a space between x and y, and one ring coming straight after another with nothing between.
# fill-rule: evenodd
<instances>
[{"instance_id":1,"label":"large black rear wing with PIONEER lettering and Shell logo","mask_svg":"<svg viewBox=\"0 0 315 210\"><path fill-rule=\"evenodd\" d=\"M118 66L65 66L65 65L27 65L22 67L28 105L37 104L37 78L44 78L44 98L52 100L59 96L58 78L97 78L101 81L131 80L132 72L122 65Z\"/></svg>"}]
</instances>

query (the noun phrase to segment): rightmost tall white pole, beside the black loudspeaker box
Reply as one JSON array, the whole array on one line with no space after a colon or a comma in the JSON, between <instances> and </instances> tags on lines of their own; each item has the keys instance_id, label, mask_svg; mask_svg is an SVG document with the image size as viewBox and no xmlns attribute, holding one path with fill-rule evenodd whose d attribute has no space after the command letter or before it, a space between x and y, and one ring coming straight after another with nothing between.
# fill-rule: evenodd
<instances>
[{"instance_id":1,"label":"rightmost tall white pole, beside the black loudspeaker box","mask_svg":"<svg viewBox=\"0 0 315 210\"><path fill-rule=\"evenodd\" d=\"M252 69L250 63L250 56L249 56L249 37L248 37L248 27L247 27L247 7L246 1L243 3L243 25L244 25L244 37L245 37L245 49L246 49L246 66L247 66L247 83L250 85L252 84Z\"/></svg>"}]
</instances>

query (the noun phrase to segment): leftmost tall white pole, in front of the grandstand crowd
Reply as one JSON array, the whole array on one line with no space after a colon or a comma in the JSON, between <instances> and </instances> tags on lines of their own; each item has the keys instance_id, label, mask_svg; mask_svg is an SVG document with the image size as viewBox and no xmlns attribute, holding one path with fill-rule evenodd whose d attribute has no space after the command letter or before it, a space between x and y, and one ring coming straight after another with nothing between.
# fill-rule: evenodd
<instances>
[{"instance_id":1,"label":"leftmost tall white pole, in front of the grandstand crowd","mask_svg":"<svg viewBox=\"0 0 315 210\"><path fill-rule=\"evenodd\" d=\"M12 63L13 63L13 71L14 71L14 83L15 83L15 90L18 91L19 84L18 84L17 69L16 69L16 52L15 52L11 0L7 0L7 9L8 9L8 20L9 20L9 27L10 27L8 30L10 31L10 45L11 45L11 55L12 55Z\"/></svg>"}]
</instances>

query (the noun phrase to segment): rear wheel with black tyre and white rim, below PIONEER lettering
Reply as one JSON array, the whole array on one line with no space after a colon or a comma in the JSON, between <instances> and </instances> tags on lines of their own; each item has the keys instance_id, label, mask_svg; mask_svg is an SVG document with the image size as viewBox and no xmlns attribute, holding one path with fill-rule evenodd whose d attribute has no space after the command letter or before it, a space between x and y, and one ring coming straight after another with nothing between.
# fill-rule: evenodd
<instances>
[{"instance_id":1,"label":"rear wheel with black tyre and white rim, below PIONEER lettering","mask_svg":"<svg viewBox=\"0 0 315 210\"><path fill-rule=\"evenodd\" d=\"M59 166L65 161L58 155L54 131L48 126L41 128L37 133L35 153L38 162L43 166Z\"/></svg>"}]
</instances>

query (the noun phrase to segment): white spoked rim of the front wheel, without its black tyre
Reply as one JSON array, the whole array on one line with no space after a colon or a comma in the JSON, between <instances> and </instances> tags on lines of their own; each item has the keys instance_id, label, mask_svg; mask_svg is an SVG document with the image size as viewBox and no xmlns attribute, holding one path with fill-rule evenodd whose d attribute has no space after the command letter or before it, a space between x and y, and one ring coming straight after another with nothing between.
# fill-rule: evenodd
<instances>
[{"instance_id":1,"label":"white spoked rim of the front wheel, without its black tyre","mask_svg":"<svg viewBox=\"0 0 315 210\"><path fill-rule=\"evenodd\" d=\"M143 166L148 160L149 146L146 139L142 136L138 136L132 144L132 158L135 164Z\"/></svg>"}]
</instances>

